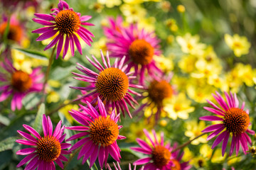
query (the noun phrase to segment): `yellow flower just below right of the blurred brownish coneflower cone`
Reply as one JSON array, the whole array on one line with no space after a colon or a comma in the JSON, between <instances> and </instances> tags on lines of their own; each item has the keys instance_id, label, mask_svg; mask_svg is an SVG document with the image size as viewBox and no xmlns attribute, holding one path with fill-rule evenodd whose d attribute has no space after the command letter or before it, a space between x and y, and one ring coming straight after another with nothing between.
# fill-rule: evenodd
<instances>
[{"instance_id":1,"label":"yellow flower just below right of the blurred brownish coneflower cone","mask_svg":"<svg viewBox=\"0 0 256 170\"><path fill-rule=\"evenodd\" d=\"M187 119L188 113L194 110L195 108L191 106L191 101L188 100L183 93L164 99L164 111L166 111L167 116L173 120L177 118Z\"/></svg>"}]
</instances>

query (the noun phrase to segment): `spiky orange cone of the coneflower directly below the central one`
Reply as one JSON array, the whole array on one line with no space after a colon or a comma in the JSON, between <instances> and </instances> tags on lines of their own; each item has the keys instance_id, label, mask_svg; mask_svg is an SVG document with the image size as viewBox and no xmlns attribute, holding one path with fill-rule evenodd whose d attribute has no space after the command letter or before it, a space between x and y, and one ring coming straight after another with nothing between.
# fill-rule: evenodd
<instances>
[{"instance_id":1,"label":"spiky orange cone of the coneflower directly below the central one","mask_svg":"<svg viewBox=\"0 0 256 170\"><path fill-rule=\"evenodd\" d=\"M117 140L119 129L110 116L100 116L90 123L90 137L96 145L107 147Z\"/></svg>"}]
</instances>

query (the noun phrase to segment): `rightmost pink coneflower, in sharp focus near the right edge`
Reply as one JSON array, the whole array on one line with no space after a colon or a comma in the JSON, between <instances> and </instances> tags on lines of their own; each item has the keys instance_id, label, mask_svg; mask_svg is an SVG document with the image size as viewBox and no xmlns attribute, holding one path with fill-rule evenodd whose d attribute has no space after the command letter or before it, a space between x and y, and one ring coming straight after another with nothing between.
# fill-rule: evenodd
<instances>
[{"instance_id":1,"label":"rightmost pink coneflower, in sharp focus near the right edge","mask_svg":"<svg viewBox=\"0 0 256 170\"><path fill-rule=\"evenodd\" d=\"M202 132L213 132L208 137L207 140L212 139L216 135L215 141L213 142L212 149L216 147L220 142L223 141L222 147L222 154L225 154L225 149L228 144L228 138L230 134L232 136L232 142L230 147L230 155L233 154L235 149L236 154L238 155L238 151L240 145L242 146L242 151L246 154L248 151L248 143L252 143L250 137L247 135L248 132L251 135L255 134L255 131L249 130L248 126L250 125L250 118L249 118L249 110L244 111L245 102L242 103L241 108L239 108L239 101L236 94L230 95L225 92L225 99L220 96L220 94L216 91L217 96L213 94L213 97L218 102L220 107L216 106L213 102L207 101L213 108L203 107L207 111L215 113L217 116L213 115L206 115L201 118L200 120L206 121L221 121L219 124L210 125L208 128L202 130ZM221 132L221 133L220 133Z\"/></svg>"}]
</instances>

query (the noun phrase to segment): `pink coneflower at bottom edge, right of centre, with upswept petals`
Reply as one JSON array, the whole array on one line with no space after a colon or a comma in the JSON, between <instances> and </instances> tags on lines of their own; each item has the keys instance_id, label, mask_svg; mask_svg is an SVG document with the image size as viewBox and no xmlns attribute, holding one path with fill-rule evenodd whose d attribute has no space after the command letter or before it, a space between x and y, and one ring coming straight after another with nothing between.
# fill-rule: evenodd
<instances>
[{"instance_id":1,"label":"pink coneflower at bottom edge, right of centre, with upswept petals","mask_svg":"<svg viewBox=\"0 0 256 170\"><path fill-rule=\"evenodd\" d=\"M154 135L153 142L152 138L149 135L149 132L147 132L144 129L144 133L146 137L151 142L152 147L144 142L143 140L137 138L137 142L140 147L131 147L132 150L135 152L142 152L143 154L148 154L149 156L146 158L138 159L133 164L141 165L146 164L144 166L144 169L149 170L168 170L171 169L172 162L171 162L171 147L170 144L164 145L164 133L161 132L161 140L160 142L156 139L156 132L152 130L152 133Z\"/></svg>"}]
</instances>

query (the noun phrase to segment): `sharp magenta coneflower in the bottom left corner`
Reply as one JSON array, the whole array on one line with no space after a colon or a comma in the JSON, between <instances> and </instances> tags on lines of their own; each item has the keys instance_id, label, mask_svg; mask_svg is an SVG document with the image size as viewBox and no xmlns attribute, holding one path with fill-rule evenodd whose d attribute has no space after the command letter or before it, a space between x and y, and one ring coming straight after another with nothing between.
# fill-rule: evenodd
<instances>
[{"instance_id":1,"label":"sharp magenta coneflower in the bottom left corner","mask_svg":"<svg viewBox=\"0 0 256 170\"><path fill-rule=\"evenodd\" d=\"M27 155L17 167L26 164L26 169L55 169L54 161L63 169L62 161L68 161L63 154L69 154L70 152L64 149L67 149L71 145L68 143L63 143L65 139L65 134L63 134L65 125L61 127L61 120L56 126L53 132L53 124L50 120L50 117L46 118L46 115L43 115L42 120L43 125L43 137L39 135L36 130L31 128L29 125L23 125L23 127L31 132L32 135L29 135L26 132L18 130L17 132L25 137L27 140L16 140L16 142L23 145L33 146L26 149L21 149L16 152L16 154ZM36 138L35 138L36 137Z\"/></svg>"}]
</instances>

